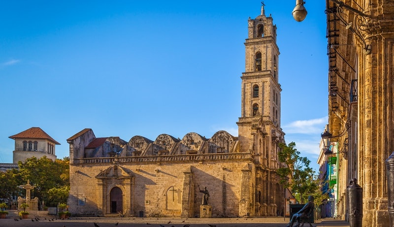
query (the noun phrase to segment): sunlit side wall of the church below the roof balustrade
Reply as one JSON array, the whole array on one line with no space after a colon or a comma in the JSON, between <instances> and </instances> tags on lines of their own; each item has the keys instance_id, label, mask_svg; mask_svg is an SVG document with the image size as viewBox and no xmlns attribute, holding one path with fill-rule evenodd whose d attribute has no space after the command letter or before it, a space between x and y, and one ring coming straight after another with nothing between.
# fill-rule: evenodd
<instances>
[{"instance_id":1,"label":"sunlit side wall of the church below the roof balustrade","mask_svg":"<svg viewBox=\"0 0 394 227\"><path fill-rule=\"evenodd\" d=\"M246 210L241 213L239 210L241 191L247 192L244 195L247 201L252 199L251 173L243 174L245 166L247 169L251 168L249 165L251 163L247 160L231 163L122 163L111 165L119 168L116 168L116 174L111 173L112 169L108 171L109 181L99 177L100 173L108 170L108 165L70 165L69 210L81 215L109 214L109 204L105 201L109 201L111 189L119 187L124 194L123 210L130 210L134 216L142 211L147 217L180 217L181 213L195 217L199 215L202 201L199 185L201 189L207 187L209 191L212 217L236 217L242 215L242 212L246 214ZM125 178L130 180L130 200L127 193L124 193ZM250 183L241 190L241 183L245 179ZM171 197L173 192L175 196ZM175 205L174 198L179 205Z\"/></svg>"}]
</instances>

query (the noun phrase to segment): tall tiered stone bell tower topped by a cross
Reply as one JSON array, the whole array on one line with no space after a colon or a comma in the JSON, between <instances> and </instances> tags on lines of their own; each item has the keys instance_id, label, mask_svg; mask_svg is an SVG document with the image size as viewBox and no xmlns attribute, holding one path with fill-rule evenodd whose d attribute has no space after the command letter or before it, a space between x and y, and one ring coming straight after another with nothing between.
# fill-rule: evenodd
<instances>
[{"instance_id":1,"label":"tall tiered stone bell tower topped by a cross","mask_svg":"<svg viewBox=\"0 0 394 227\"><path fill-rule=\"evenodd\" d=\"M237 122L241 152L253 152L255 161L277 169L278 142L284 142L280 128L281 91L276 44L276 26L261 15L248 20L245 44L245 72L242 73L241 117Z\"/></svg>"}]
</instances>

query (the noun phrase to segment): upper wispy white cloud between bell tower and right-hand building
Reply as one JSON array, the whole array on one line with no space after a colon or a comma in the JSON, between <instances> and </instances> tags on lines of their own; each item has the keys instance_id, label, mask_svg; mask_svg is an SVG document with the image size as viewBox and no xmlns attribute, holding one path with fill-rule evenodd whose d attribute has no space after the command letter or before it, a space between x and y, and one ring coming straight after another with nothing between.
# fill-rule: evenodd
<instances>
[{"instance_id":1,"label":"upper wispy white cloud between bell tower and right-hand building","mask_svg":"<svg viewBox=\"0 0 394 227\"><path fill-rule=\"evenodd\" d=\"M328 123L328 116L310 119L310 120L297 120L288 125L283 126L283 131L286 134L316 134L324 130L324 126Z\"/></svg>"}]
</instances>

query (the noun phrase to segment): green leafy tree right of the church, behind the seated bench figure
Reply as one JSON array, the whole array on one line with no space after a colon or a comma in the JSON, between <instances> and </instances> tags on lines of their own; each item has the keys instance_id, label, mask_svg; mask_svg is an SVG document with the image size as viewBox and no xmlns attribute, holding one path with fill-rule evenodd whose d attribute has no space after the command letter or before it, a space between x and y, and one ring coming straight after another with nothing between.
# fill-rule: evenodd
<instances>
[{"instance_id":1,"label":"green leafy tree right of the church, behind the seated bench figure","mask_svg":"<svg viewBox=\"0 0 394 227\"><path fill-rule=\"evenodd\" d=\"M315 171L309 167L311 161L300 156L295 142L288 145L280 143L279 147L281 148L278 153L279 161L286 164L286 167L277 170L281 178L280 182L290 188L294 197L303 203L304 199L314 195L316 189L319 189L319 185L313 180Z\"/></svg>"}]
</instances>

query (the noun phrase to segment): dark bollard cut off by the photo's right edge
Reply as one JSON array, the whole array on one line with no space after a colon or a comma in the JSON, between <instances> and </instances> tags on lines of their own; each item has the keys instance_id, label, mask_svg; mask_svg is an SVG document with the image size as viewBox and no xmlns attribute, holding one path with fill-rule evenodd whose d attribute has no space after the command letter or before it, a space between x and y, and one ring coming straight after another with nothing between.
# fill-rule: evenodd
<instances>
[{"instance_id":1,"label":"dark bollard cut off by the photo's right edge","mask_svg":"<svg viewBox=\"0 0 394 227\"><path fill-rule=\"evenodd\" d=\"M387 176L387 209L389 210L390 225L394 226L394 152L386 159Z\"/></svg>"}]
</instances>

